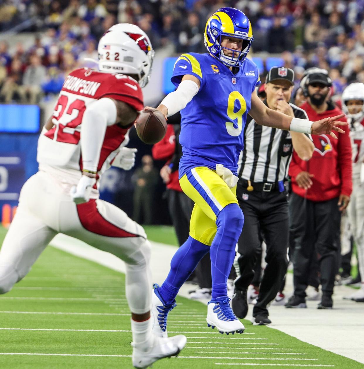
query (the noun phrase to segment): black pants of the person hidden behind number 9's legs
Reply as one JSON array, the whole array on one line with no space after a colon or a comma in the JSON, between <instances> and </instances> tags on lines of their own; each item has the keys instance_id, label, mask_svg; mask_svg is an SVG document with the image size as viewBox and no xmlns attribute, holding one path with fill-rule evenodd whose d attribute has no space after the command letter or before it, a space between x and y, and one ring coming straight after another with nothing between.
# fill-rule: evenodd
<instances>
[{"instance_id":1,"label":"black pants of the person hidden behind number 9's legs","mask_svg":"<svg viewBox=\"0 0 364 369\"><path fill-rule=\"evenodd\" d=\"M168 189L168 208L172 218L172 223L176 231L178 244L181 246L189 235L189 224L193 209L193 201L183 192ZM200 288L211 288L211 260L207 253L198 263L195 271L189 277L192 280L197 278Z\"/></svg>"}]
</instances>

